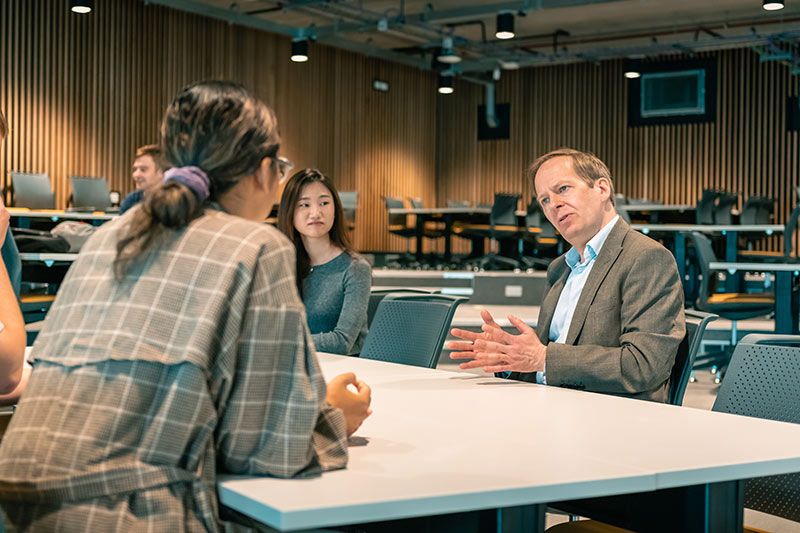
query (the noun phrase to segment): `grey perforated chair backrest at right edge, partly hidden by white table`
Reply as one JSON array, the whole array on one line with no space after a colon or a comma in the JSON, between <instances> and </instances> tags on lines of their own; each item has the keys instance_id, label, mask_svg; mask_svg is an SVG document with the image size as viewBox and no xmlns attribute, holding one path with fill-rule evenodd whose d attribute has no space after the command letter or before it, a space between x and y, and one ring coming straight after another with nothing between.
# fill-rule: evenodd
<instances>
[{"instance_id":1,"label":"grey perforated chair backrest at right edge, partly hidden by white table","mask_svg":"<svg viewBox=\"0 0 800 533\"><path fill-rule=\"evenodd\" d=\"M800 424L800 336L746 335L714 411ZM800 522L800 474L745 480L745 507Z\"/></svg>"}]
</instances>

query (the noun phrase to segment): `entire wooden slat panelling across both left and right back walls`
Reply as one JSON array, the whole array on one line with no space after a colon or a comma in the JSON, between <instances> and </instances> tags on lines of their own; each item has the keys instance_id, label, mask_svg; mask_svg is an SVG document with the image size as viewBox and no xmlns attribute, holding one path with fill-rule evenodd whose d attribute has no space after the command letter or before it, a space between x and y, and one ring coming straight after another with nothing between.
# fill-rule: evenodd
<instances>
[{"instance_id":1,"label":"entire wooden slat panelling across both left and right back walls","mask_svg":"<svg viewBox=\"0 0 800 533\"><path fill-rule=\"evenodd\" d=\"M511 103L511 138L478 142L481 86L457 82L440 96L429 72L313 44L311 61L294 64L282 36L137 0L97 4L80 16L67 0L0 2L0 107L12 129L0 147L2 184L11 170L47 172L59 206L72 174L130 191L135 148L157 140L172 95L204 78L251 88L275 108L298 168L359 191L363 250L405 248L386 231L381 195L429 206L490 202L495 191L527 199L526 165L559 146L595 152L628 196L694 203L706 187L770 195L778 222L800 185L798 134L785 124L797 78L748 49L704 54L719 64L714 124L628 128L622 64L605 61L504 72L497 101ZM390 91L373 91L374 79Z\"/></svg>"}]
</instances>

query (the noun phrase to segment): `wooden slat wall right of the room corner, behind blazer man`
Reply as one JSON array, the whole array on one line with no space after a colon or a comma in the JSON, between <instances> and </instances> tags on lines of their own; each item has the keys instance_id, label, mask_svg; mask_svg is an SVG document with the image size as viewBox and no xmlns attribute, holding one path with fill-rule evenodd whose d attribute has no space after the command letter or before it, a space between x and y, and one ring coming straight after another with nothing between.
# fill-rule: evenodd
<instances>
[{"instance_id":1,"label":"wooden slat wall right of the room corner, behind blazer man","mask_svg":"<svg viewBox=\"0 0 800 533\"><path fill-rule=\"evenodd\" d=\"M497 101L511 103L509 140L477 141L484 89L458 83L437 113L437 196L491 202L494 192L532 191L524 169L561 147L590 150L611 169L617 192L665 203L697 201L704 188L777 199L783 223L800 185L798 133L786 130L786 98L798 92L787 66L750 49L702 54L718 61L717 121L627 126L621 61L504 72ZM522 207L522 203L520 205ZM779 239L765 243L780 248ZM459 250L464 250L460 246Z\"/></svg>"}]
</instances>

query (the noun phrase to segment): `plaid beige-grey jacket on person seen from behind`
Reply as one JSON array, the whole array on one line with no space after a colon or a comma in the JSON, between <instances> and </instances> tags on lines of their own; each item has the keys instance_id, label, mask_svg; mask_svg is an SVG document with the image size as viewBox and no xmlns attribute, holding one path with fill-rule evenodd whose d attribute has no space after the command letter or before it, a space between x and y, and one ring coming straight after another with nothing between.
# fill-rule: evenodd
<instances>
[{"instance_id":1,"label":"plaid beige-grey jacket on person seen from behind","mask_svg":"<svg viewBox=\"0 0 800 533\"><path fill-rule=\"evenodd\" d=\"M294 282L272 227L208 210L122 282L118 230L70 268L0 444L0 507L26 531L216 531L216 473L342 468Z\"/></svg>"}]
</instances>

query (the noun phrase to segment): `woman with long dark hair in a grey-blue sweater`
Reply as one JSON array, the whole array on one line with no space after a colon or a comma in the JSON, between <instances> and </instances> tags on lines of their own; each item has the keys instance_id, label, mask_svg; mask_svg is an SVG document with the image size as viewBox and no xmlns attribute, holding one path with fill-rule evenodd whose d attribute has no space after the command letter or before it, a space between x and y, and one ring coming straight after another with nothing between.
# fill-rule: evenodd
<instances>
[{"instance_id":1,"label":"woman with long dark hair in a grey-blue sweater","mask_svg":"<svg viewBox=\"0 0 800 533\"><path fill-rule=\"evenodd\" d=\"M314 346L359 353L367 336L372 271L350 246L336 187L318 170L301 170L286 184L278 212L278 227L297 248L297 289Z\"/></svg>"}]
</instances>

